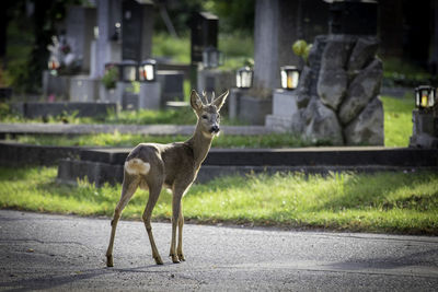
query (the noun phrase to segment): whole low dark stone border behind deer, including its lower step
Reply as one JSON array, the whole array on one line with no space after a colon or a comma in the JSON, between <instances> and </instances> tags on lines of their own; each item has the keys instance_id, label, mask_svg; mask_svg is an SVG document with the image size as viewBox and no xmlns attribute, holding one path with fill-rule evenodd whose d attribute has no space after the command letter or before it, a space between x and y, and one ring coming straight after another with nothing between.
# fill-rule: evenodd
<instances>
[{"instance_id":1,"label":"whole low dark stone border behind deer, including its lower step","mask_svg":"<svg viewBox=\"0 0 438 292\"><path fill-rule=\"evenodd\" d=\"M80 153L80 160L61 160L60 182L85 178L101 186L122 183L123 164L129 150L93 149ZM438 171L438 150L384 148L310 149L211 149L199 173L198 183L223 175L251 173L304 173L327 175L331 172L412 172Z\"/></svg>"}]
</instances>

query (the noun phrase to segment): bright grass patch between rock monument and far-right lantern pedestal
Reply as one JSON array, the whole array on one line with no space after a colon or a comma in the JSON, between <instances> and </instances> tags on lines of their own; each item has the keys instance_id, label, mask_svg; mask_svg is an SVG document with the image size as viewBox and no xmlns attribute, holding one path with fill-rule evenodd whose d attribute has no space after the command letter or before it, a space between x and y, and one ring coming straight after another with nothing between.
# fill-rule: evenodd
<instances>
[{"instance_id":1,"label":"bright grass patch between rock monument and far-right lantern pedestal","mask_svg":"<svg viewBox=\"0 0 438 292\"><path fill-rule=\"evenodd\" d=\"M414 98L380 97L384 109L384 145L407 147L412 136Z\"/></svg>"}]
</instances>

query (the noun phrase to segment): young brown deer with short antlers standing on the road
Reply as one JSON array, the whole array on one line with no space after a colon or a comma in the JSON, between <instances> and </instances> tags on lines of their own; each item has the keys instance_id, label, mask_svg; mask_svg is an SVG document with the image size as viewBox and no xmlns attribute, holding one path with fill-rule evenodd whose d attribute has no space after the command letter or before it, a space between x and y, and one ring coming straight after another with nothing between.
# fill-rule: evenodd
<instances>
[{"instance_id":1,"label":"young brown deer with short antlers standing on the road","mask_svg":"<svg viewBox=\"0 0 438 292\"><path fill-rule=\"evenodd\" d=\"M195 182L200 165L210 150L212 139L219 135L220 115L229 91L211 101L208 101L206 92L203 98L192 91L191 106L197 117L193 136L185 142L169 144L140 143L128 154L124 164L124 179L122 183L122 196L115 207L111 221L110 245L106 250L106 266L114 267L113 246L117 222L122 212L138 187L149 190L149 198L142 213L142 221L152 248L152 257L157 265L163 265L163 260L157 249L152 235L151 215L163 187L172 191L172 238L169 257L174 264L185 261L183 254L183 207L182 198ZM176 247L176 227L178 232Z\"/></svg>"}]
</instances>

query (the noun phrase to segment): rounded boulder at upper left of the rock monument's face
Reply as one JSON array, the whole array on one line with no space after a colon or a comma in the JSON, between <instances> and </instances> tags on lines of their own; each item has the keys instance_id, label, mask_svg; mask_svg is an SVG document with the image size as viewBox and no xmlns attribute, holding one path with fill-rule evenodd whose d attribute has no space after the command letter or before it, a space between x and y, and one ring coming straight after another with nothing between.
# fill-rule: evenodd
<instances>
[{"instance_id":1,"label":"rounded boulder at upper left of the rock monument's face","mask_svg":"<svg viewBox=\"0 0 438 292\"><path fill-rule=\"evenodd\" d=\"M336 69L321 68L316 92L321 102L337 110L347 91L348 77L341 67Z\"/></svg>"}]
</instances>

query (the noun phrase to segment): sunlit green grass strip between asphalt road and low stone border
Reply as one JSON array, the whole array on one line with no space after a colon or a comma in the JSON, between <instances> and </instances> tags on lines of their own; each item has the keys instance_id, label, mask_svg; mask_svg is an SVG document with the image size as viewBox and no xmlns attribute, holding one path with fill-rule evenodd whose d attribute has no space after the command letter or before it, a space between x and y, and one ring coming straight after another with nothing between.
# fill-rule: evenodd
<instances>
[{"instance_id":1,"label":"sunlit green grass strip between asphalt road and low stone border","mask_svg":"<svg viewBox=\"0 0 438 292\"><path fill-rule=\"evenodd\" d=\"M0 167L0 207L80 215L112 215L120 186L59 185L56 168ZM124 211L140 219L148 192ZM169 220L171 195L153 211ZM183 198L187 221L438 235L438 174L302 174L221 177L194 185Z\"/></svg>"}]
</instances>

